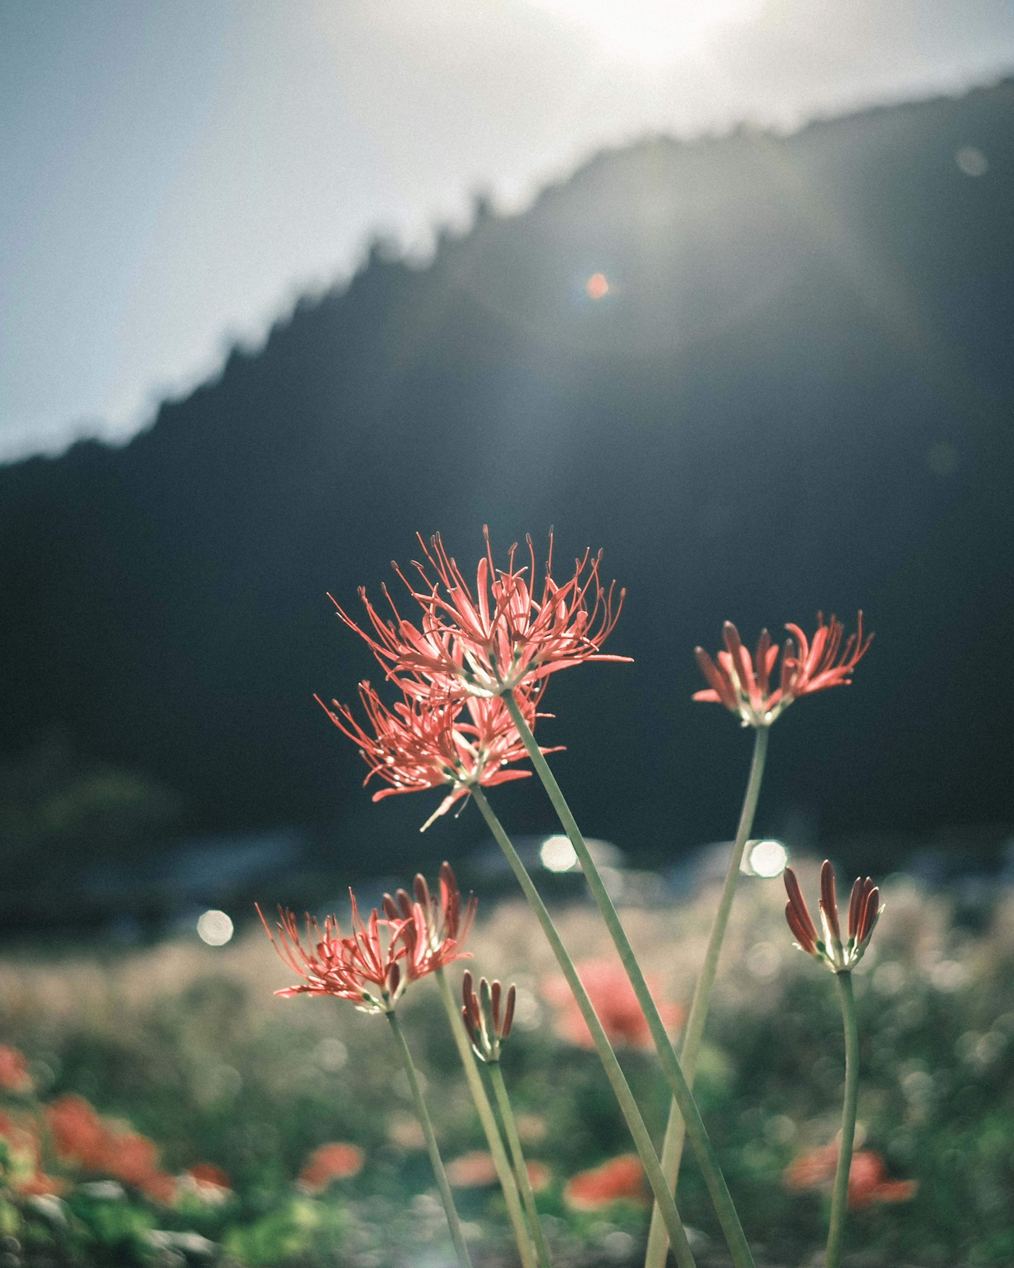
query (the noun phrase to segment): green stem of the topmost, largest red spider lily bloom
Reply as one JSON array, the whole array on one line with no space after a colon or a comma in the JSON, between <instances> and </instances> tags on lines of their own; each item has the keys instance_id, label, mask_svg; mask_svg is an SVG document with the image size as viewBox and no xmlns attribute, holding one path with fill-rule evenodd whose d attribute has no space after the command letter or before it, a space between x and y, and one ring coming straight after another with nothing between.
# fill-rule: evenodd
<instances>
[{"instance_id":1,"label":"green stem of the topmost, largest red spider lily bloom","mask_svg":"<svg viewBox=\"0 0 1014 1268\"><path fill-rule=\"evenodd\" d=\"M673 1096L676 1097L679 1113L687 1125L687 1136L690 1136L691 1148L693 1149L701 1173L703 1174L705 1184L707 1186L711 1202L719 1217L719 1224L721 1225L722 1234L725 1235L726 1244L729 1245L729 1253L733 1257L733 1263L735 1264L735 1268L754 1268L753 1255L750 1254L750 1248L747 1244L743 1225L739 1222L739 1216L733 1206L729 1187L725 1183L725 1177L722 1175L719 1161L715 1158L715 1151L707 1137L707 1131L703 1121L701 1120L701 1113L697 1110L693 1094L691 1093L687 1080L683 1077L683 1070L681 1069L679 1060L676 1055L676 1049L673 1047L672 1040L665 1031L665 1023L659 1016L658 1006L651 998L651 992L648 989L648 983L644 980L641 966L638 964L638 957L634 955L630 940L620 923L620 917L616 914L612 899L606 893L606 886L602 883L602 877L598 874L594 860L588 853L584 837L581 834L581 829L570 813L570 808L564 800L564 795L560 791L560 786L556 782L553 771L549 768L549 763L539 751L535 735L532 735L531 728L525 721L513 694L511 691L506 691L502 699L507 705L511 719L513 720L521 739L525 742L525 748L531 758L531 763L541 779L546 792L549 794L549 799L553 803L553 808L559 815L560 823L570 839L570 844L577 852L584 876L588 881L588 886L592 890L596 903L598 904L598 910L602 913L602 918L605 919L606 927L612 936L616 950L620 952L620 960L622 961L626 975L630 979L630 985L634 988L634 994L638 997L638 1003L640 1004L644 1019L648 1022L648 1028L651 1032L651 1038L654 1040L655 1049L658 1050L662 1070L669 1083ZM655 1201L658 1201L658 1189L654 1184L651 1188L655 1193ZM669 1186L667 1183L667 1197L669 1196Z\"/></svg>"}]
</instances>

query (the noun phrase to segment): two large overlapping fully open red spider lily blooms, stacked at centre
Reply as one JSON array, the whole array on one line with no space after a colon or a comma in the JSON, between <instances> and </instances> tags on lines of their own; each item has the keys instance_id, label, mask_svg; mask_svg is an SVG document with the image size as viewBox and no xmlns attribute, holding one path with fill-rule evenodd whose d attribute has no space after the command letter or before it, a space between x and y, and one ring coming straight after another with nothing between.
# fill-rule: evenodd
<instances>
[{"instance_id":1,"label":"two large overlapping fully open red spider lily blooms, stacked at centre","mask_svg":"<svg viewBox=\"0 0 1014 1268\"><path fill-rule=\"evenodd\" d=\"M603 588L601 554L591 558L586 552L575 560L573 577L560 586L551 576L550 535L542 590L536 596L526 576L535 572L531 539L530 566L516 567L515 545L507 569L498 571L487 533L473 593L439 535L428 549L422 538L420 544L430 571L414 564L420 577L414 587L395 566L411 598L422 609L418 626L398 612L387 587L384 596L393 614L388 620L360 590L369 629L332 600L346 625L366 640L402 699L388 708L369 682L361 682L366 725L347 705L332 700L330 708L317 699L335 725L359 746L369 767L366 782L376 776L388 785L374 792L375 801L398 792L449 787L425 831L473 787L531 773L510 768L527 753L503 701L507 692L534 730L536 719L546 716L537 713L537 704L550 673L582 661L627 658L600 650L624 600L620 591L613 606L613 587Z\"/></svg>"}]
</instances>

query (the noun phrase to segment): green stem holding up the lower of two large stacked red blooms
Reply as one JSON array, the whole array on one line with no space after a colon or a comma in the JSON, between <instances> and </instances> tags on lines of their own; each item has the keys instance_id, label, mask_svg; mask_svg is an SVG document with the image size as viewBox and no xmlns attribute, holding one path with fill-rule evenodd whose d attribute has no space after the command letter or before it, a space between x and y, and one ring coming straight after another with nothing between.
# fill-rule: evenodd
<instances>
[{"instance_id":1,"label":"green stem holding up the lower of two large stacked red blooms","mask_svg":"<svg viewBox=\"0 0 1014 1268\"><path fill-rule=\"evenodd\" d=\"M539 923L542 926L542 932L545 933L549 945L553 947L553 954L556 956L556 962L563 970L564 978L567 978L567 984L574 995L578 1008L581 1009L581 1016L584 1018L586 1026L592 1032L592 1041L596 1051L598 1052L598 1059L602 1061L606 1070L606 1078L610 1080L613 1094L620 1102L620 1110L622 1111L626 1125L630 1129L630 1135L634 1137L634 1145L638 1150L638 1155L640 1156L641 1165L644 1167L644 1173L648 1177L648 1183L651 1186L655 1201L662 1208L662 1219L665 1222L665 1230L669 1234L669 1243L672 1244L676 1262L679 1268L695 1268L690 1243L687 1241L687 1235L683 1231L683 1221L679 1219L679 1212L676 1210L676 1201L673 1200L673 1196L665 1184L665 1178L662 1174L662 1167L659 1165L655 1146L651 1144L648 1129L644 1126L640 1110L638 1110L634 1094L624 1078L624 1071L620 1069L616 1054L606 1037L605 1030L602 1030L602 1022L600 1022L598 1016L592 1007L592 1002L588 999L588 992L584 989L584 983L578 976L574 961L570 959L567 947L563 945L560 935L556 932L556 926L553 923L553 918L539 895L539 890L532 884L531 876L529 876L525 865L517 856L517 851L511 844L511 838L503 831L499 819L496 814L493 814L489 803L485 800L485 794L478 784L473 786L472 796L489 825L493 838L507 856L507 862L511 865L511 870L517 877L517 883L521 885L525 896L529 903L531 903L535 914L539 917Z\"/></svg>"}]
</instances>

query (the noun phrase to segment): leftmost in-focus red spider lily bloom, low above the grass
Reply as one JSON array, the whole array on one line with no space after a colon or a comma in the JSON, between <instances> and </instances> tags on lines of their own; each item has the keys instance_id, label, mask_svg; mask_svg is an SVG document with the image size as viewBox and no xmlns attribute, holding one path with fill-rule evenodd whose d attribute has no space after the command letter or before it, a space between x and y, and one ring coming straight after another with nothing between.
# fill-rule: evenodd
<instances>
[{"instance_id":1,"label":"leftmost in-focus red spider lily bloom, low above the grass","mask_svg":"<svg viewBox=\"0 0 1014 1268\"><path fill-rule=\"evenodd\" d=\"M382 919L376 908L363 923L352 900L352 932L342 937L335 915L324 919L323 933L316 919L307 915L307 950L300 942L299 927L292 912L279 908L279 941L276 942L260 907L261 918L271 946L285 964L300 978L303 985L276 990L276 995L337 995L350 999L360 1012L388 1013L394 1008L404 989L404 978L398 961L404 959L402 942L404 921ZM382 938L382 929L384 937Z\"/></svg>"}]
</instances>

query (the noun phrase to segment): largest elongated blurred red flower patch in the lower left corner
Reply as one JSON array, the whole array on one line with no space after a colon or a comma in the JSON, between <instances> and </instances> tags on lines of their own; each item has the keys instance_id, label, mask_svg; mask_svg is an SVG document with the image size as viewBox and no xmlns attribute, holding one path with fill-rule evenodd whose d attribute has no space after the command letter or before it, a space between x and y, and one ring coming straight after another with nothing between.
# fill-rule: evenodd
<instances>
[{"instance_id":1,"label":"largest elongated blurred red flower patch in the lower left corner","mask_svg":"<svg viewBox=\"0 0 1014 1268\"><path fill-rule=\"evenodd\" d=\"M158 1169L158 1151L147 1136L112 1127L84 1097L67 1094L46 1107L57 1158L86 1172L112 1175L157 1202L171 1202L176 1182Z\"/></svg>"}]
</instances>

